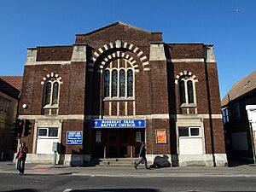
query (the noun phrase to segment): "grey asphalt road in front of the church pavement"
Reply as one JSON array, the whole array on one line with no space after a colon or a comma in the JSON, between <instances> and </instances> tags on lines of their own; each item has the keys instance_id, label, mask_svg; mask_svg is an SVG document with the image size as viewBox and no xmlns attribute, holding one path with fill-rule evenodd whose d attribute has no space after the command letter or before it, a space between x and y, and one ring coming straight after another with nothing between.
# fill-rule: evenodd
<instances>
[{"instance_id":1,"label":"grey asphalt road in front of the church pavement","mask_svg":"<svg viewBox=\"0 0 256 192\"><path fill-rule=\"evenodd\" d=\"M189 176L189 175L188 175ZM4 192L256 191L256 177L90 177L0 173Z\"/></svg>"}]
</instances>

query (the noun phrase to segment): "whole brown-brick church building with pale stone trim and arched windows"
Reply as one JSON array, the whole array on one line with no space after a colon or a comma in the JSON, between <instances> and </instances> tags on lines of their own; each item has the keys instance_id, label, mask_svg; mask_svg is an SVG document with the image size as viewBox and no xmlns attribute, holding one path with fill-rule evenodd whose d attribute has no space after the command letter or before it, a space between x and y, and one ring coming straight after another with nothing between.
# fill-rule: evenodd
<instances>
[{"instance_id":1,"label":"whole brown-brick church building with pale stone trim and arched windows","mask_svg":"<svg viewBox=\"0 0 256 192\"><path fill-rule=\"evenodd\" d=\"M27 161L52 162L54 142L65 165L136 158L146 142L149 164L227 164L212 45L116 22L73 45L29 48L21 92Z\"/></svg>"}]
</instances>

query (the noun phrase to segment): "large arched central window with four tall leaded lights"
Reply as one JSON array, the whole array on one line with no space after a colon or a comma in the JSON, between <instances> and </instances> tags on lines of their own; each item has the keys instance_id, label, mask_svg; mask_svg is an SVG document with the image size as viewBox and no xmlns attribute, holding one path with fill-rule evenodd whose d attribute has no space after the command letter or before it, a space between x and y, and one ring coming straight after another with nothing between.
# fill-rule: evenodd
<instances>
[{"instance_id":1,"label":"large arched central window with four tall leaded lights","mask_svg":"<svg viewBox=\"0 0 256 192\"><path fill-rule=\"evenodd\" d=\"M134 70L129 61L111 61L103 71L104 99L132 99L134 97Z\"/></svg>"}]
</instances>

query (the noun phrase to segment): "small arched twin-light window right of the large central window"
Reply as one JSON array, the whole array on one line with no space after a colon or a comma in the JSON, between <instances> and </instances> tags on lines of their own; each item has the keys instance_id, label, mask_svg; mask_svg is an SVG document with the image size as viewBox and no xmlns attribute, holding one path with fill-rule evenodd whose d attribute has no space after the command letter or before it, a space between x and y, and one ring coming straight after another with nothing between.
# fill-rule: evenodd
<instances>
[{"instance_id":1,"label":"small arched twin-light window right of the large central window","mask_svg":"<svg viewBox=\"0 0 256 192\"><path fill-rule=\"evenodd\" d=\"M189 77L183 77L178 82L179 102L183 106L195 106L195 81Z\"/></svg>"}]
</instances>

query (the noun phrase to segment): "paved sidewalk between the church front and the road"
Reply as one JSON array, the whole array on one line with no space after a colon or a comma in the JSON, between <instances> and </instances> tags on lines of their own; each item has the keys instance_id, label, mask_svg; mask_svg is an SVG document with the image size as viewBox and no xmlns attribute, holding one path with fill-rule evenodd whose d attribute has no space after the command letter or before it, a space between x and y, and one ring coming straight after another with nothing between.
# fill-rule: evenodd
<instances>
[{"instance_id":1,"label":"paved sidewalk between the church front and the road","mask_svg":"<svg viewBox=\"0 0 256 192\"><path fill-rule=\"evenodd\" d=\"M0 161L0 172L17 173L11 161ZM234 167L183 166L155 168L150 170L139 166L88 166L70 167L61 165L26 164L25 175L54 174L90 177L256 177L256 166L242 165Z\"/></svg>"}]
</instances>

